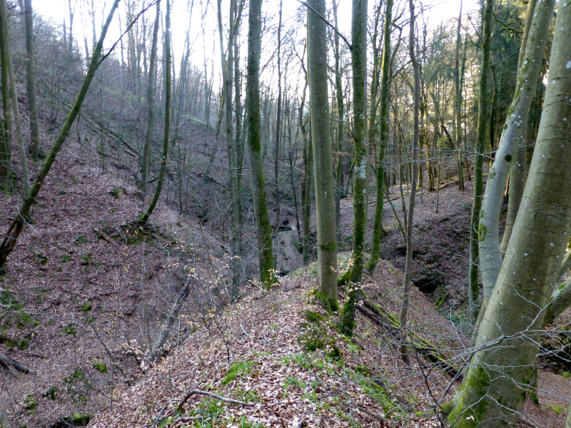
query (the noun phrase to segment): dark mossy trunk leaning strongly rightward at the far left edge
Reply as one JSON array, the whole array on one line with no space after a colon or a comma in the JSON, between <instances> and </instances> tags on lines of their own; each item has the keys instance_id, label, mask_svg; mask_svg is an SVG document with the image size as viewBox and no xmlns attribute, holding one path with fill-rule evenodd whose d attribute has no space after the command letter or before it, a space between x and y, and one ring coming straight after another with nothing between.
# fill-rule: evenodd
<instances>
[{"instance_id":1,"label":"dark mossy trunk leaning strongly rightward at the far left edge","mask_svg":"<svg viewBox=\"0 0 571 428\"><path fill-rule=\"evenodd\" d=\"M18 242L18 238L22 229L24 228L25 218L27 218L31 212L31 207L36 202L36 197L41 190L41 186L44 184L44 180L46 180L46 176L48 175L51 165L54 165L54 161L56 160L56 156L58 155L61 148L64 146L66 142L67 136L69 136L69 131L71 131L71 126L74 124L74 121L79 114L81 109L81 104L84 102L85 96L89 89L89 85L91 81L93 81L95 71L97 67L101 64L106 56L101 55L101 51L103 49L103 40L105 40L105 36L107 34L107 30L109 25L111 24L111 20L113 19L113 14L115 13L118 3L120 0L113 1L113 5L111 6L111 11L107 16L105 24L103 25L103 29L101 29L101 35L99 36L99 40L94 48L93 56L91 56L91 61L89 61L89 68L87 68L86 76L84 78L84 83L81 85L81 89L79 90L78 96L74 103L74 106L71 108L66 121L64 122L64 126L61 128L59 136L56 138L56 142L54 146L52 146L50 153L46 157L46 161L44 161L44 165L42 165L41 170L38 173L38 177L34 182L30 192L26 196L24 203L21 205L21 208L10 223L6 234L4 235L4 239L0 244L0 271L5 269L6 260L10 253L16 247L16 243Z\"/></svg>"}]
</instances>

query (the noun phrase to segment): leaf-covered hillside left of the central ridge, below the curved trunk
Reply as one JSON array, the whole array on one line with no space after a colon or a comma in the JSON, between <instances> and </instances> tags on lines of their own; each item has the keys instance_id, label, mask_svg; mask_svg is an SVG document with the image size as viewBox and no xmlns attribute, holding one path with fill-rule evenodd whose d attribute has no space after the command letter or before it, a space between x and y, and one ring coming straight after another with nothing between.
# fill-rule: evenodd
<instances>
[{"instance_id":1,"label":"leaf-covered hillside left of the central ridge, below the curved trunk","mask_svg":"<svg viewBox=\"0 0 571 428\"><path fill-rule=\"evenodd\" d=\"M80 151L71 142L56 161L0 282L0 353L34 371L2 372L0 413L17 426L93 414L119 384L133 384L185 285L191 298L178 315L199 316L223 301L212 280L226 272L221 243L166 208L156 210L151 230L127 233L148 201L98 175ZM31 167L34 175L38 165ZM1 227L20 201L1 198Z\"/></svg>"}]
</instances>

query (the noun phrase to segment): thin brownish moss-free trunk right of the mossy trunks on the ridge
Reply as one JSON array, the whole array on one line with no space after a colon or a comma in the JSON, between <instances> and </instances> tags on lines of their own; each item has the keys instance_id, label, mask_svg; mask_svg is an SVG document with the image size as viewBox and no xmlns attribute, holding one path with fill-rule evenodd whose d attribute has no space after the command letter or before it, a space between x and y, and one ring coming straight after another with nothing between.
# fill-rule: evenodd
<instances>
[{"instance_id":1,"label":"thin brownish moss-free trunk right of the mossy trunks on the ridge","mask_svg":"<svg viewBox=\"0 0 571 428\"><path fill-rule=\"evenodd\" d=\"M408 200L408 221L406 226L406 262L405 262L405 278L403 284L403 303L400 308L400 328L403 332L406 331L408 304L410 301L410 279L413 275L413 228L414 228L414 211L415 211L415 198L416 198L416 180L418 179L418 134L419 134L419 110L420 110L420 66L415 54L415 6L413 0L408 0L410 9L410 34L408 36L408 50L410 53L410 61L413 64L414 72L414 133L413 133L413 173L410 183L410 197ZM401 347L401 355L406 361L404 347Z\"/></svg>"}]
</instances>

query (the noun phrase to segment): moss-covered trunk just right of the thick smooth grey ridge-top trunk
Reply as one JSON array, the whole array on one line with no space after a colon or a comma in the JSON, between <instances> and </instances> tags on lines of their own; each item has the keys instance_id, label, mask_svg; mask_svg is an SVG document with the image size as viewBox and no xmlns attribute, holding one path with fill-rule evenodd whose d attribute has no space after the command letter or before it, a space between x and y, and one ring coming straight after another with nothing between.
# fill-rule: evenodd
<instances>
[{"instance_id":1,"label":"moss-covered trunk just right of the thick smooth grey ridge-top trunk","mask_svg":"<svg viewBox=\"0 0 571 428\"><path fill-rule=\"evenodd\" d=\"M355 305L363 277L363 253L367 225L367 0L353 0L351 14L351 65L353 66L353 266L349 274L348 300L343 305L341 325L345 335L353 335Z\"/></svg>"}]
</instances>

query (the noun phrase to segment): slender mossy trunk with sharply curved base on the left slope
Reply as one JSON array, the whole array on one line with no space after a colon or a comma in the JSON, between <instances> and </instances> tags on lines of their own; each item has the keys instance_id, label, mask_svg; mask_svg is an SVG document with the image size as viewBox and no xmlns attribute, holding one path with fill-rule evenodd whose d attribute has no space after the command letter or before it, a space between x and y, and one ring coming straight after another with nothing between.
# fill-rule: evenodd
<instances>
[{"instance_id":1,"label":"slender mossy trunk with sharply curved base on the left slope","mask_svg":"<svg viewBox=\"0 0 571 428\"><path fill-rule=\"evenodd\" d=\"M165 44L163 46L166 56L165 64L165 128L163 132L163 156L161 157L161 170L158 173L158 181L156 183L155 194L151 203L148 205L147 210L141 218L137 220L138 225L145 225L148 218L151 217L153 210L158 203L158 198L161 196L163 190L163 181L166 175L166 163L168 161L168 143L171 130L171 91L172 91L172 54L171 54L171 5L169 0L166 0L166 16L165 16Z\"/></svg>"}]
</instances>

